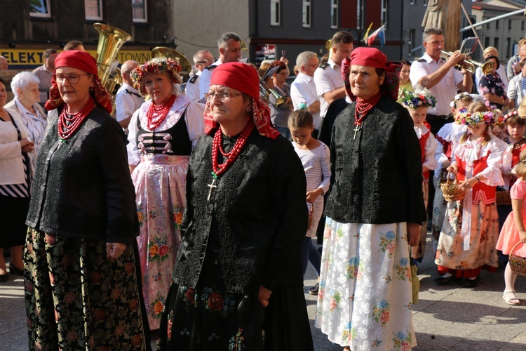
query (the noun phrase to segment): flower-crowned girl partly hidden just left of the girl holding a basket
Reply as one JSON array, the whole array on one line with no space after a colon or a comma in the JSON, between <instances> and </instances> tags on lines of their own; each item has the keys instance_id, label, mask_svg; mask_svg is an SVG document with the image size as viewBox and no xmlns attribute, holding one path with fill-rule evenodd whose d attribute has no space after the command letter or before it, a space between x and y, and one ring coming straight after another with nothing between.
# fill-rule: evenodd
<instances>
[{"instance_id":1,"label":"flower-crowned girl partly hidden just left of the girl holding a basket","mask_svg":"<svg viewBox=\"0 0 526 351\"><path fill-rule=\"evenodd\" d=\"M445 124L440 131L436 133L436 153L435 159L438 163L437 171L433 182L435 183L435 197L433 198L433 218L431 218L431 233L433 237L433 251L436 251L436 243L442 224L444 223L445 208L447 201L445 201L442 188L440 188L440 173L446 170L451 164L452 150L458 144L462 134L466 133L466 124L461 124L457 121L457 117L462 110L468 107L473 102L473 98L468 93L460 93L454 96L450 102L451 113L455 117L455 121Z\"/></svg>"}]
</instances>

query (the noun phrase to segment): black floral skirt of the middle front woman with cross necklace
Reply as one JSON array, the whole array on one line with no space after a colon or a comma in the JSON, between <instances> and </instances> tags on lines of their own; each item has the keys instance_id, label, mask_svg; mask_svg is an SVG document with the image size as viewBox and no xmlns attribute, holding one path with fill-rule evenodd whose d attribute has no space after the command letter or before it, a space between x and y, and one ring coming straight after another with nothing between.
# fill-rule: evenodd
<instances>
[{"instance_id":1,"label":"black floral skirt of the middle front woman with cross necklace","mask_svg":"<svg viewBox=\"0 0 526 351\"><path fill-rule=\"evenodd\" d=\"M157 350L313 350L302 286L275 289L263 308L257 293L226 291L221 267L211 261L205 259L196 289L170 287Z\"/></svg>"}]
</instances>

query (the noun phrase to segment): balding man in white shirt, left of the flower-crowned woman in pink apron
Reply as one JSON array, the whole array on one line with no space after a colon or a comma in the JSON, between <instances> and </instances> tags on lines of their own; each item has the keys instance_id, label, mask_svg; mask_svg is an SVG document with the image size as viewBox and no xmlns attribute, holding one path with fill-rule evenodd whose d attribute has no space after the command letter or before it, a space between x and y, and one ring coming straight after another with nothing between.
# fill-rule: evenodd
<instances>
[{"instance_id":1,"label":"balding man in white shirt, left of the flower-crowned woman in pink apron","mask_svg":"<svg viewBox=\"0 0 526 351\"><path fill-rule=\"evenodd\" d=\"M121 76L123 84L115 96L116 119L123 128L128 128L133 112L137 110L144 102L137 89L133 88L130 79L130 72L139 65L139 62L132 60L126 61L121 66Z\"/></svg>"}]
</instances>

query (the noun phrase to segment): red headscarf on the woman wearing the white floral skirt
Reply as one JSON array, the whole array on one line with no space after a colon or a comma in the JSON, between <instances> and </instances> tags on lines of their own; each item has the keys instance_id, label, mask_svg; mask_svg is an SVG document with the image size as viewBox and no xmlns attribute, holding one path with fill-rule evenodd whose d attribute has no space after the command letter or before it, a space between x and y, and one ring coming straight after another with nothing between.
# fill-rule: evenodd
<instances>
[{"instance_id":1,"label":"red headscarf on the woman wearing the white floral skirt","mask_svg":"<svg viewBox=\"0 0 526 351\"><path fill-rule=\"evenodd\" d=\"M387 57L377 48L370 48L367 46L360 46L353 50L351 58L344 58L342 61L341 74L345 82L347 93L352 96L351 83L349 81L349 71L351 65L360 65L373 68L382 68L385 70L384 84L380 86L382 95L389 96L393 100L398 99L398 86L400 85L400 69L402 64L400 62L387 62Z\"/></svg>"}]
</instances>

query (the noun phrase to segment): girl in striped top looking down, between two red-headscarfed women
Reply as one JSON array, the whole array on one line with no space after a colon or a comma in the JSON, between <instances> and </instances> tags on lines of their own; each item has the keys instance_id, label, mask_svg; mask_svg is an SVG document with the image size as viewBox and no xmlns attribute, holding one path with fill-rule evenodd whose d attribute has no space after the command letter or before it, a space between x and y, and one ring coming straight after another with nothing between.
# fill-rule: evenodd
<instances>
[{"instance_id":1,"label":"girl in striped top looking down, between two red-headscarfed women","mask_svg":"<svg viewBox=\"0 0 526 351\"><path fill-rule=\"evenodd\" d=\"M316 237L318 222L323 212L323 194L329 190L330 185L330 154L327 145L311 137L314 130L311 112L307 110L296 110L288 117L288 128L292 135L292 145L299 159L302 161L307 181L306 201L313 206L311 226L306 232L302 245L302 268L305 275L307 262L310 261L316 274L318 282L320 279L321 255L312 244L312 238ZM318 295L316 283L309 290L311 295Z\"/></svg>"}]
</instances>

